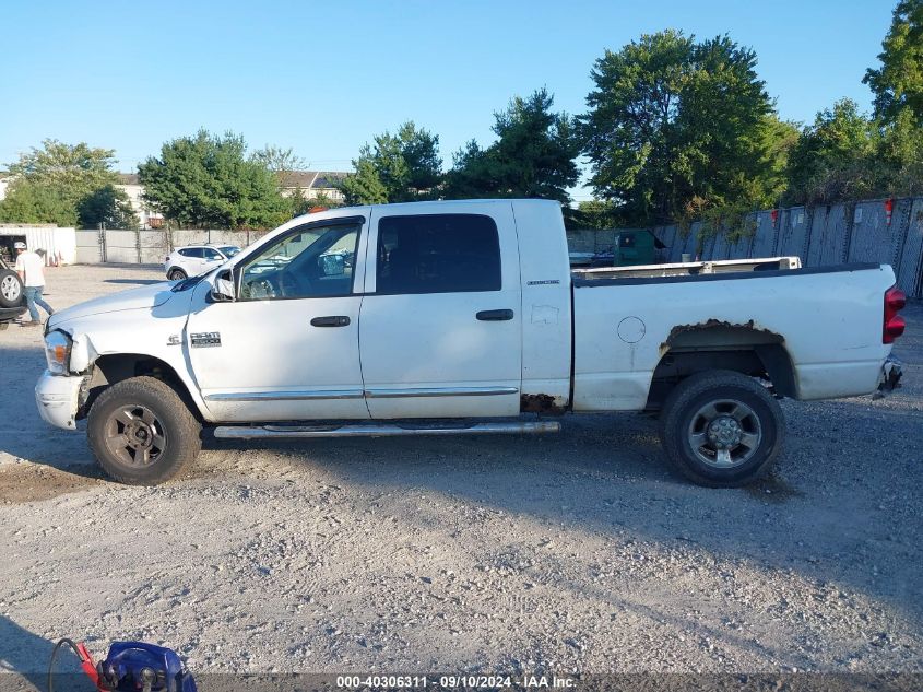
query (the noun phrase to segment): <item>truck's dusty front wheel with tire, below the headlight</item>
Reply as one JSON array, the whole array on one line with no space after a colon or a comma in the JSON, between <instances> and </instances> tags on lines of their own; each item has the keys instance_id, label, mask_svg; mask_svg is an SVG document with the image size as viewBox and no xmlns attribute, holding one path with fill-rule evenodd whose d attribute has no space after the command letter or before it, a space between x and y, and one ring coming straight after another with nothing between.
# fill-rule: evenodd
<instances>
[{"instance_id":1,"label":"truck's dusty front wheel with tire, below the headlight","mask_svg":"<svg viewBox=\"0 0 923 692\"><path fill-rule=\"evenodd\" d=\"M179 474L202 446L202 426L176 390L153 377L116 383L87 417L90 448L113 479L157 485Z\"/></svg>"}]
</instances>

